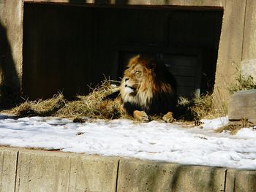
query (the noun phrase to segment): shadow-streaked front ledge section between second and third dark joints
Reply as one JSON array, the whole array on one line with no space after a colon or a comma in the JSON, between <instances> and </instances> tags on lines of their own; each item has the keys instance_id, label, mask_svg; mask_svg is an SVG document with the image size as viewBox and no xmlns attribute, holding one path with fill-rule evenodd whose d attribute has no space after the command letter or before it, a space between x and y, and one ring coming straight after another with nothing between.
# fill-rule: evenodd
<instances>
[{"instance_id":1,"label":"shadow-streaked front ledge section between second and third dark joints","mask_svg":"<svg viewBox=\"0 0 256 192\"><path fill-rule=\"evenodd\" d=\"M224 191L225 169L121 160L117 191Z\"/></svg>"}]
</instances>

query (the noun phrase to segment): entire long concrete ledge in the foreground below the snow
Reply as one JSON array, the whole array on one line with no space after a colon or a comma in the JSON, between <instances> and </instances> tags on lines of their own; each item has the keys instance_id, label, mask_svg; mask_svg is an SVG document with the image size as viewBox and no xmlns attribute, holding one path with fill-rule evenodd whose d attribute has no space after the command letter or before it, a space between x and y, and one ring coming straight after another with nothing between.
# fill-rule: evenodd
<instances>
[{"instance_id":1,"label":"entire long concrete ledge in the foreground below the snow","mask_svg":"<svg viewBox=\"0 0 256 192\"><path fill-rule=\"evenodd\" d=\"M0 191L256 191L256 171L0 147Z\"/></svg>"}]
</instances>

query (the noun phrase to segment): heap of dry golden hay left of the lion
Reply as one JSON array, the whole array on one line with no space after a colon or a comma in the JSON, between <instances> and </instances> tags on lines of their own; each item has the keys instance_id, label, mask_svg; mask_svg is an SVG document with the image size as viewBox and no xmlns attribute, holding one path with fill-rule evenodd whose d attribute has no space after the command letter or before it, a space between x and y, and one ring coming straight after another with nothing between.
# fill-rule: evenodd
<instances>
[{"instance_id":1,"label":"heap of dry golden hay left of the lion","mask_svg":"<svg viewBox=\"0 0 256 192\"><path fill-rule=\"evenodd\" d=\"M121 117L121 104L118 99L107 99L118 91L109 80L94 88L87 96L77 96L75 101L67 101L62 93L52 99L25 101L10 112L19 117L58 116L61 118L102 118Z\"/></svg>"}]
</instances>

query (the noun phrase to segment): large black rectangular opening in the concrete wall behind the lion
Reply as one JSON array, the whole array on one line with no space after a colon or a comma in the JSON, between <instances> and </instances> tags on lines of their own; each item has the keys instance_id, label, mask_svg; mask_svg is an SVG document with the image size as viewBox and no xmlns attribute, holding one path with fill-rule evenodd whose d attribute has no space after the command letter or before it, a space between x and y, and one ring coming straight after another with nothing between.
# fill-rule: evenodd
<instances>
[{"instance_id":1,"label":"large black rectangular opening in the concrete wall behind the lion","mask_svg":"<svg viewBox=\"0 0 256 192\"><path fill-rule=\"evenodd\" d=\"M212 91L222 9L24 4L23 92L30 99L88 93L119 80L127 59L161 53L178 93Z\"/></svg>"}]
</instances>

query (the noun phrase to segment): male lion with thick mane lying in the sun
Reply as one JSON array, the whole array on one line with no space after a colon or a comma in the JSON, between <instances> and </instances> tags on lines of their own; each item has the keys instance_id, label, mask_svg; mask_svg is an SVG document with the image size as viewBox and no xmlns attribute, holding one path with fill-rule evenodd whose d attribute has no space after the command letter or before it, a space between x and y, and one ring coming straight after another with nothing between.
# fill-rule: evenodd
<instances>
[{"instance_id":1,"label":"male lion with thick mane lying in the sun","mask_svg":"<svg viewBox=\"0 0 256 192\"><path fill-rule=\"evenodd\" d=\"M148 121L148 115L164 115L163 120L173 121L176 80L157 58L131 58L121 80L120 95L124 112L135 120Z\"/></svg>"}]
</instances>

